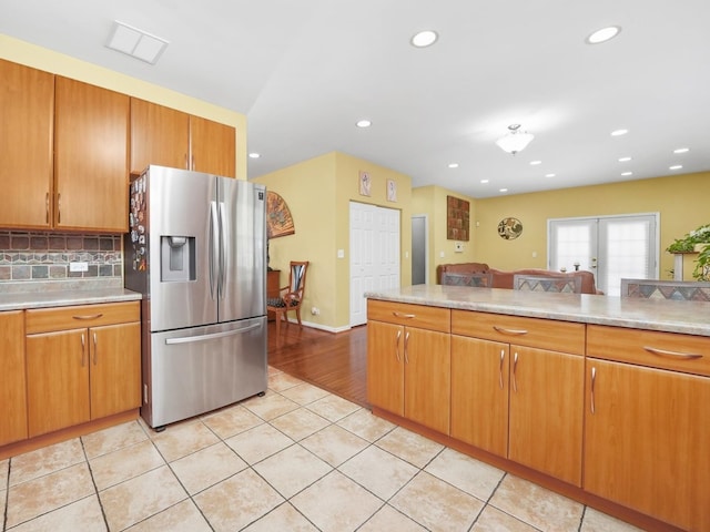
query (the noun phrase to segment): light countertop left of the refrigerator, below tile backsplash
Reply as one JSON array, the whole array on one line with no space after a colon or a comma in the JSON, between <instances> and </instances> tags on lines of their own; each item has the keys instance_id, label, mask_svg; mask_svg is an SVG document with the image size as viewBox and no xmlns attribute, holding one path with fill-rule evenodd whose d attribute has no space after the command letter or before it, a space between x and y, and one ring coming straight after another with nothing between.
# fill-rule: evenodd
<instances>
[{"instance_id":1,"label":"light countertop left of the refrigerator, below tile backsplash","mask_svg":"<svg viewBox=\"0 0 710 532\"><path fill-rule=\"evenodd\" d=\"M111 282L11 283L0 286L0 311L140 300L136 291Z\"/></svg>"}]
</instances>

